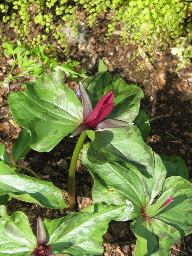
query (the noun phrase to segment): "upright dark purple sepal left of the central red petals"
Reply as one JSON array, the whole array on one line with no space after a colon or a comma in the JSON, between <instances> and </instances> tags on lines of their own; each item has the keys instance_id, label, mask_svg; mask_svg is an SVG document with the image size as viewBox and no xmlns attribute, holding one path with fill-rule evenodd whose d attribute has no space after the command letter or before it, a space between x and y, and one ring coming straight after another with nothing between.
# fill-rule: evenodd
<instances>
[{"instance_id":1,"label":"upright dark purple sepal left of the central red petals","mask_svg":"<svg viewBox=\"0 0 192 256\"><path fill-rule=\"evenodd\" d=\"M93 109L89 96L81 82L79 83L79 91L81 92L81 98L83 102L83 121L85 122L87 117L92 113Z\"/></svg>"}]
</instances>

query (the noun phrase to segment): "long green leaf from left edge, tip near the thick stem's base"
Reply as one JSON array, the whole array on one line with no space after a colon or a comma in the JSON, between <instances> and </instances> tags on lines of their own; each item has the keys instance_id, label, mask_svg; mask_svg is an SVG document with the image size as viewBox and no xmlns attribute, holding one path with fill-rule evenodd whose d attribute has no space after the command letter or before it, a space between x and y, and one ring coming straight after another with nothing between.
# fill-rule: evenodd
<instances>
[{"instance_id":1,"label":"long green leaf from left edge, tip near the thick stem's base","mask_svg":"<svg viewBox=\"0 0 192 256\"><path fill-rule=\"evenodd\" d=\"M67 208L60 189L52 182L14 172L0 162L0 196L5 194L52 209Z\"/></svg>"}]
</instances>

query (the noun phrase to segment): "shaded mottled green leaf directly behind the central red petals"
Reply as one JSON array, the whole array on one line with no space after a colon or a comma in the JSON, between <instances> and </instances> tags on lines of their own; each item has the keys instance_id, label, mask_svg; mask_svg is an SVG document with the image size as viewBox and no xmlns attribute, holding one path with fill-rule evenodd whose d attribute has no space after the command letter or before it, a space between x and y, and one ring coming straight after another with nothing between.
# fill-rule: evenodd
<instances>
[{"instance_id":1,"label":"shaded mottled green leaf directly behind the central red petals","mask_svg":"<svg viewBox=\"0 0 192 256\"><path fill-rule=\"evenodd\" d=\"M140 99L144 97L140 87L128 85L116 75L113 79L107 72L98 72L93 77L83 79L84 85L93 108L97 102L109 91L114 93L115 105L108 118L132 122L139 113Z\"/></svg>"}]
</instances>

